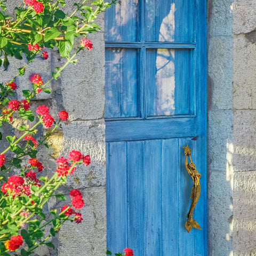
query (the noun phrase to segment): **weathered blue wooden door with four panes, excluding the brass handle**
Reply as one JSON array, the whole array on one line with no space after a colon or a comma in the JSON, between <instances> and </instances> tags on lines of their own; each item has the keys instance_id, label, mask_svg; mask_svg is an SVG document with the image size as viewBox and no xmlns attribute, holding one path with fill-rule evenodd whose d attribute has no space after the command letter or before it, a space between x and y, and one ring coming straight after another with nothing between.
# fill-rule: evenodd
<instances>
[{"instance_id":1,"label":"weathered blue wooden door with four panes, excluding the brass handle","mask_svg":"<svg viewBox=\"0 0 256 256\"><path fill-rule=\"evenodd\" d=\"M206 1L121 2L105 15L107 247L206 256ZM187 144L202 174L189 234Z\"/></svg>"}]
</instances>

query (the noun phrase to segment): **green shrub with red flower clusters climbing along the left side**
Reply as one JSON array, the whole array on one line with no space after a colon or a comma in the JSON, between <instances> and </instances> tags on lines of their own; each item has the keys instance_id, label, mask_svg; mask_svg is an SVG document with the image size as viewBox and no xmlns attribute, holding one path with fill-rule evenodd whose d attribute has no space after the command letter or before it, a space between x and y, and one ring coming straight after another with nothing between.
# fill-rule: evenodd
<instances>
[{"instance_id":1,"label":"green shrub with red flower clusters climbing along the left side","mask_svg":"<svg viewBox=\"0 0 256 256\"><path fill-rule=\"evenodd\" d=\"M0 12L0 66L3 65L6 70L10 65L10 57L26 58L27 64L18 68L18 74L10 82L0 83L0 127L3 123L13 126L17 118L26 119L30 124L22 123L18 127L12 127L19 130L19 138L13 134L3 138L0 132L0 140L8 143L6 148L1 146L0 150L0 255L10 255L10 251L19 250L20 255L26 256L42 244L54 248L48 239L55 236L66 221L81 223L83 218L79 210L84 206L84 201L77 189L70 191L71 203L50 211L50 219L46 220L43 206L51 197L65 201L66 197L57 193L57 189L67 182L68 175L74 173L77 165L88 166L91 162L89 155L72 150L67 158L61 156L55 161L57 167L51 178L47 175L39 178L38 173L44 173L44 164L38 161L37 151L43 146L48 147L47 137L55 129L61 129L62 121L68 119L68 113L62 110L59 120L54 120L50 109L44 105L38 106L33 113L30 110L33 103L31 99L40 92L51 93L46 85L57 79L69 63L75 64L75 57L80 51L92 49L93 44L86 35L100 29L93 23L94 19L98 13L118 1L104 3L103 0L98 0L92 2L92 6L87 6L84 0L82 3L75 3L74 12L67 14L60 10L65 6L65 0L24 0L23 6L15 8L15 19L4 12L5 2L0 0L3 10ZM78 36L84 38L79 39L79 47L70 56ZM31 74L31 90L22 91L24 99L14 99L14 91L19 88L19 84L14 82L15 78L23 76L27 66L35 58L46 60L49 57L46 49L53 47L57 47L60 56L66 58L65 64L55 67L55 72L52 72L52 77L47 82L42 80L40 74ZM43 125L48 132L36 140L39 125ZM46 226L51 226L50 234L45 234ZM133 253L126 250L125 255L133 256Z\"/></svg>"}]
</instances>

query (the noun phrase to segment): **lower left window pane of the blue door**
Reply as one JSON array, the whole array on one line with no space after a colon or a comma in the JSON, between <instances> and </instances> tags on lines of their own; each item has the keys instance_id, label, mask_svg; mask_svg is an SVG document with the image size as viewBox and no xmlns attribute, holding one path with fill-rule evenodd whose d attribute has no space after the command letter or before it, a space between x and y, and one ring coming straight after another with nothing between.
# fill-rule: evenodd
<instances>
[{"instance_id":1,"label":"lower left window pane of the blue door","mask_svg":"<svg viewBox=\"0 0 256 256\"><path fill-rule=\"evenodd\" d=\"M105 118L138 116L137 50L106 49Z\"/></svg>"}]
</instances>

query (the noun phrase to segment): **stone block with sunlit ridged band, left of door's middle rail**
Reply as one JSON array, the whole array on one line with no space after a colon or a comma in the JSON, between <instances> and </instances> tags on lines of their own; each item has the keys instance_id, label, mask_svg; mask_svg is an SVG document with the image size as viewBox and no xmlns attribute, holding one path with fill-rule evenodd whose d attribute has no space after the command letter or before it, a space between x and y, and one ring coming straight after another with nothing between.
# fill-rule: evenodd
<instances>
[{"instance_id":1,"label":"stone block with sunlit ridged band, left of door's middle rail","mask_svg":"<svg viewBox=\"0 0 256 256\"><path fill-rule=\"evenodd\" d=\"M68 185L73 188L105 186L106 183L106 149L105 122L72 122L63 127L63 153L71 150L90 155L89 166L79 165L73 175L68 177Z\"/></svg>"}]
</instances>

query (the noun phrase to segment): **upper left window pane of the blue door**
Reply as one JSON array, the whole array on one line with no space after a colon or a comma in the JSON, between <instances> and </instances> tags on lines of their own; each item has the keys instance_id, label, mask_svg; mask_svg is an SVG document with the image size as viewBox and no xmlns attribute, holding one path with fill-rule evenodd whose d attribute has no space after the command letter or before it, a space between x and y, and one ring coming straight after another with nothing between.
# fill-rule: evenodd
<instances>
[{"instance_id":1,"label":"upper left window pane of the blue door","mask_svg":"<svg viewBox=\"0 0 256 256\"><path fill-rule=\"evenodd\" d=\"M106 10L105 40L137 41L138 0L126 0Z\"/></svg>"}]
</instances>

